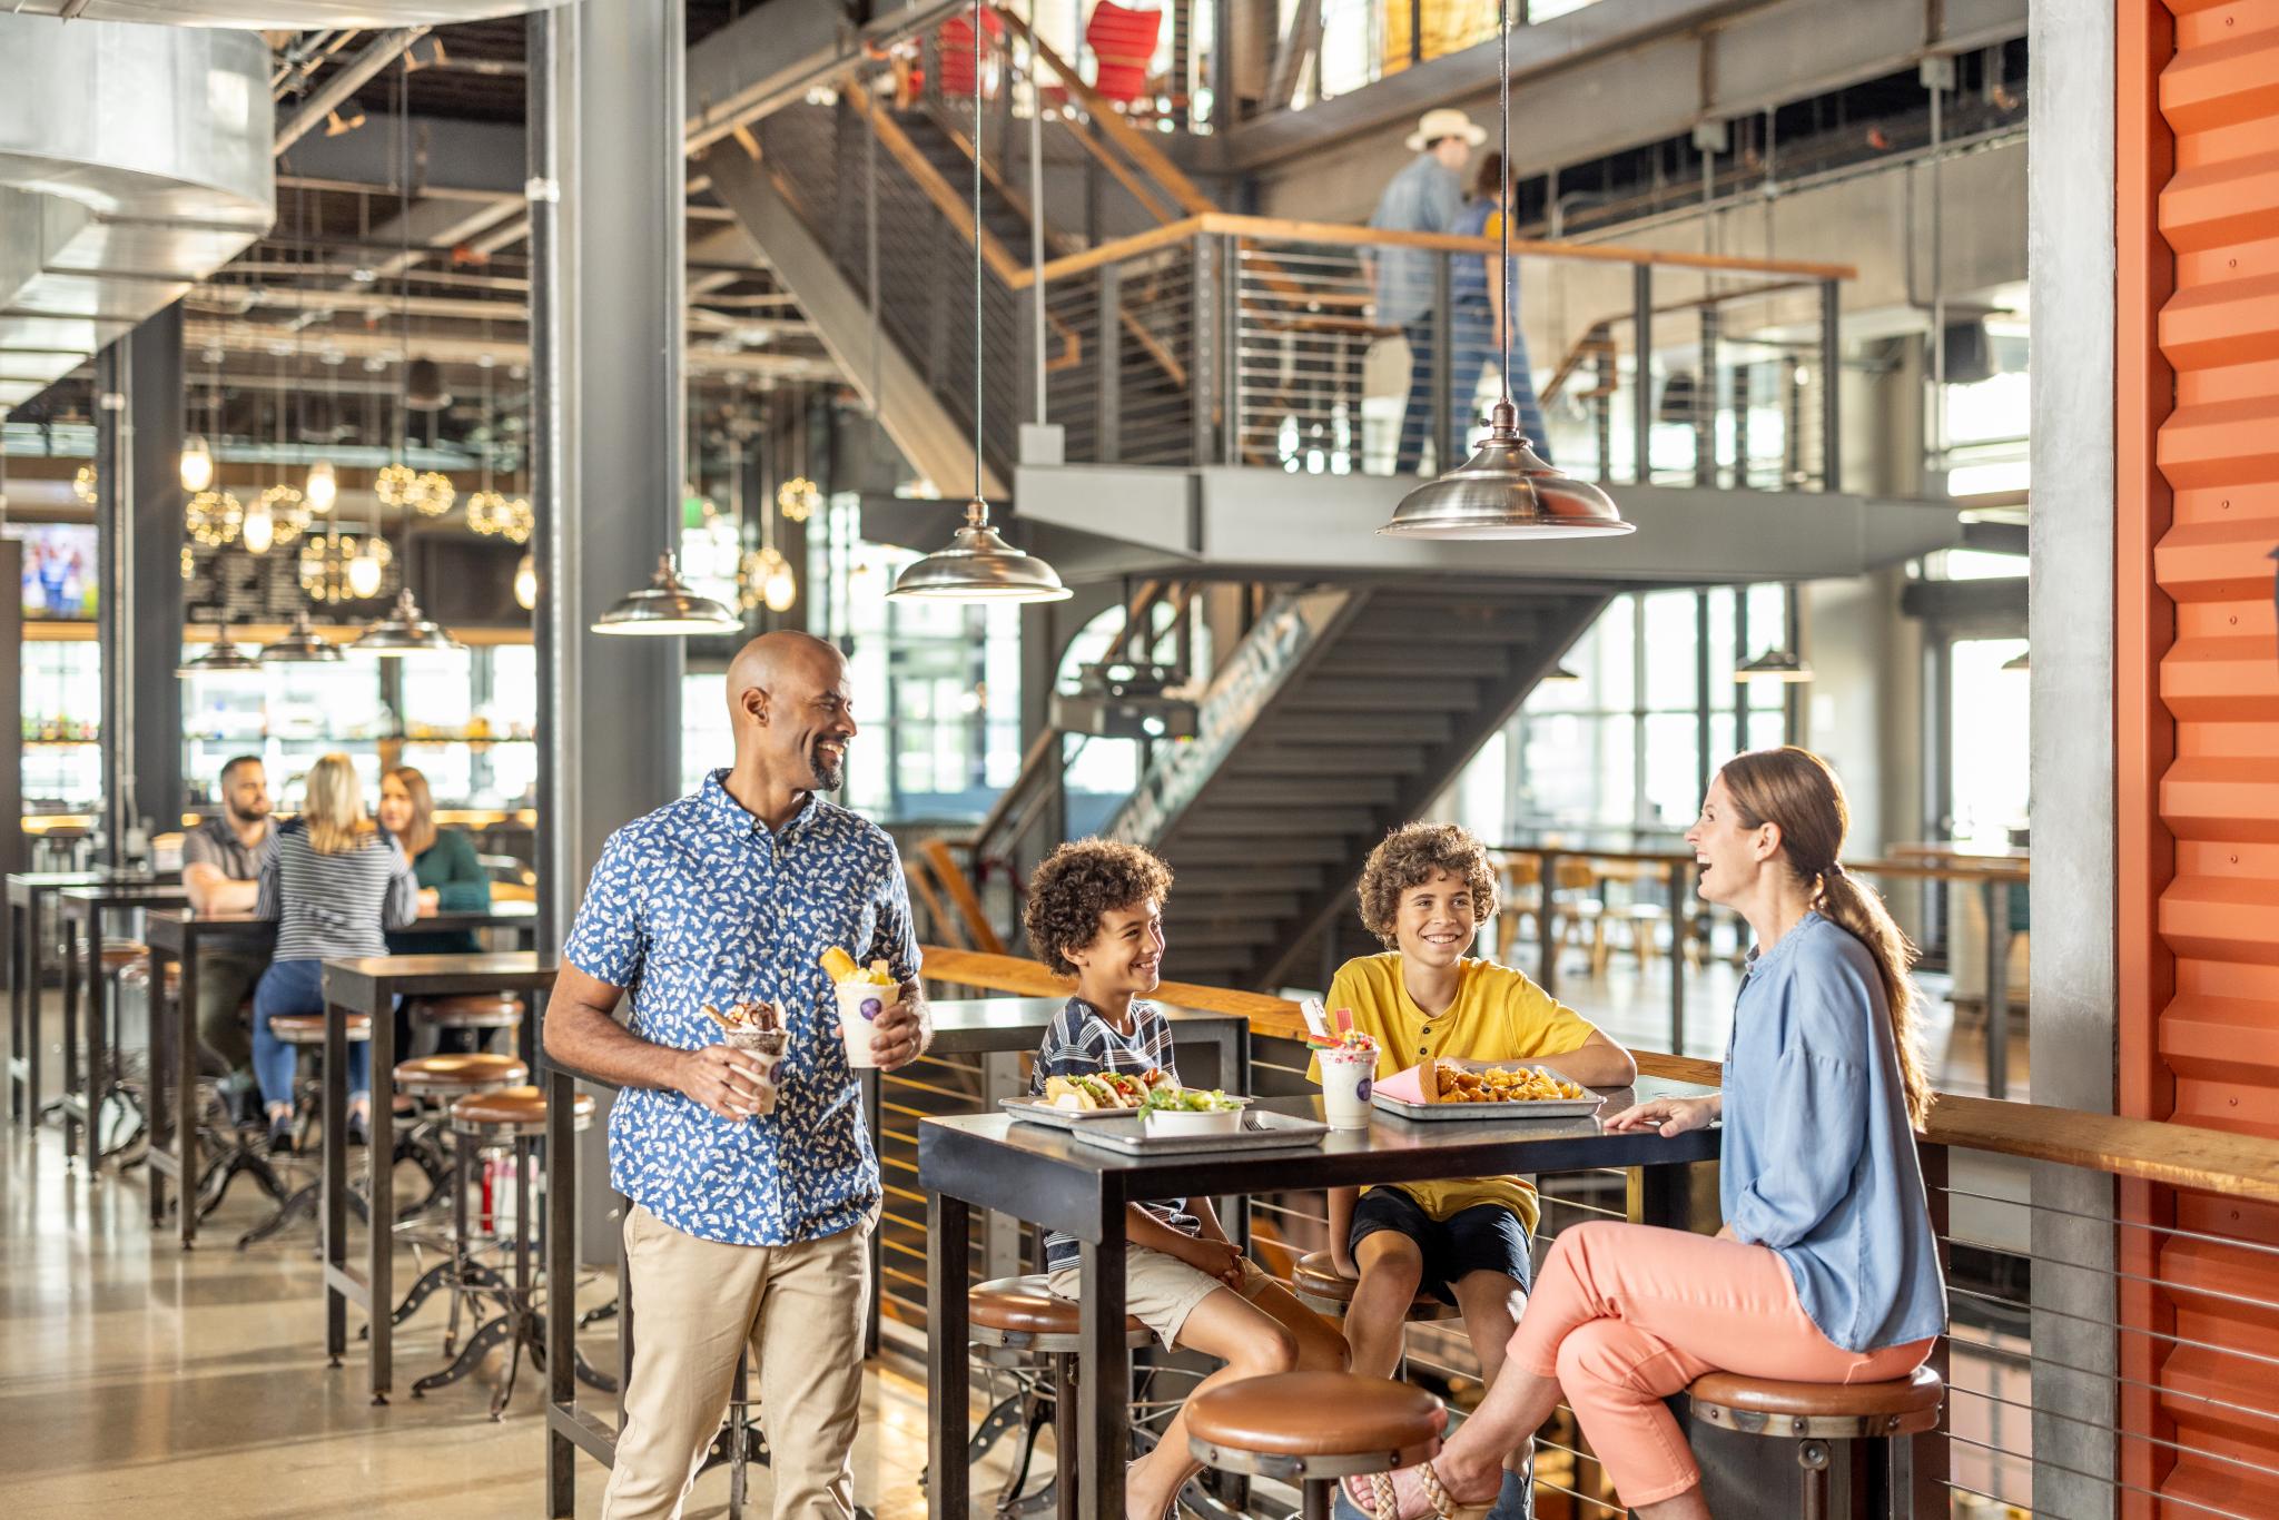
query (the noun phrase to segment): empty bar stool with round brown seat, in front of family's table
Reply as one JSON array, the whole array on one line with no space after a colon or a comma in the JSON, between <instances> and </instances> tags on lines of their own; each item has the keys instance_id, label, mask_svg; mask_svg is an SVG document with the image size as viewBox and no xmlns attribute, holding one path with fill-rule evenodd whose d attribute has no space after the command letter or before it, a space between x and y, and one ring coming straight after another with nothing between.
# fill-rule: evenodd
<instances>
[{"instance_id":1,"label":"empty bar stool with round brown seat, in front of family's table","mask_svg":"<svg viewBox=\"0 0 2279 1520\"><path fill-rule=\"evenodd\" d=\"M1329 1520L1338 1479L1429 1461L1443 1424L1433 1395L1358 1372L1276 1372L1187 1399L1187 1449L1206 1468L1297 1484L1304 1520Z\"/></svg>"}]
</instances>

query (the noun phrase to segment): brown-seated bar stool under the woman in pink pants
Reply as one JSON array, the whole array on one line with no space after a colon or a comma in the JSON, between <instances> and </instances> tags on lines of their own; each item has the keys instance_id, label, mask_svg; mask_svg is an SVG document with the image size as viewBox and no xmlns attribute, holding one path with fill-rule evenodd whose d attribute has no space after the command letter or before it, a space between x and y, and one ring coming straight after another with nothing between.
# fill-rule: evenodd
<instances>
[{"instance_id":1,"label":"brown-seated bar stool under the woman in pink pants","mask_svg":"<svg viewBox=\"0 0 2279 1520\"><path fill-rule=\"evenodd\" d=\"M1889 1383L1780 1383L1773 1379L1712 1372L1686 1388L1693 1417L1743 1436L1796 1443L1798 1509L1803 1520L1828 1520L1830 1443L1882 1443L1887 1481L1885 1518L1905 1513L1905 1436L1939 1429L1946 1383L1930 1367L1917 1367Z\"/></svg>"}]
</instances>

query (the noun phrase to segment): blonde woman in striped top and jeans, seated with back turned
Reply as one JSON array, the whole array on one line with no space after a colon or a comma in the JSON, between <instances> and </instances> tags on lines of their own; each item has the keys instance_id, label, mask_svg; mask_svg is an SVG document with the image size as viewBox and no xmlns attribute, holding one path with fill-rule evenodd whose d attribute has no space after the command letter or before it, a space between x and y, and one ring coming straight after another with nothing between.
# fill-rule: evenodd
<instances>
[{"instance_id":1,"label":"blonde woman in striped top and jeans, seated with back turned","mask_svg":"<svg viewBox=\"0 0 2279 1520\"><path fill-rule=\"evenodd\" d=\"M269 1149L292 1151L294 1053L269 1021L324 1012L324 962L387 955L387 930L406 927L419 902L412 866L371 818L346 754L308 773L301 816L276 830L262 864L255 918L276 918L278 943L253 989L253 1076L269 1110ZM365 1144L371 1114L371 1046L349 1046L349 1142Z\"/></svg>"}]
</instances>

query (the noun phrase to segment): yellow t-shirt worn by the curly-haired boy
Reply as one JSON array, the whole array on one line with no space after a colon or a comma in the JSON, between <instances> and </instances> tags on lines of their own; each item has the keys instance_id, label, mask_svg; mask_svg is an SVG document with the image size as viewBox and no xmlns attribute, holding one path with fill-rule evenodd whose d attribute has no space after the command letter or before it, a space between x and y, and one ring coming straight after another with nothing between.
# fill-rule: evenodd
<instances>
[{"instance_id":1,"label":"yellow t-shirt worn by the curly-haired boy","mask_svg":"<svg viewBox=\"0 0 2279 1520\"><path fill-rule=\"evenodd\" d=\"M1459 966L1456 1000L1427 1016L1402 982L1402 953L1363 955L1338 966L1326 1007L1354 1010L1354 1028L1377 1039L1377 1078L1415 1067L1431 1055L1447 1060L1541 1060L1579 1051L1598 1032L1588 1019L1536 987L1527 973L1486 959ZM1322 1080L1322 1062L1306 1067ZM1399 1183L1433 1219L1447 1219L1479 1203L1502 1203L1529 1233L1541 1217L1536 1190L1518 1176L1481 1176L1447 1183Z\"/></svg>"}]
</instances>

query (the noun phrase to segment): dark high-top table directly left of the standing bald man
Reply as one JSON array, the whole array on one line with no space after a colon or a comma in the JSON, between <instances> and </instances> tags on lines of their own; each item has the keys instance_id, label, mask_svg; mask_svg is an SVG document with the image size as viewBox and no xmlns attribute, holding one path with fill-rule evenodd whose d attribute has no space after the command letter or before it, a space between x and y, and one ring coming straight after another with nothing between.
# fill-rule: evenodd
<instances>
[{"instance_id":1,"label":"dark high-top table directly left of the standing bald man","mask_svg":"<svg viewBox=\"0 0 2279 1520\"><path fill-rule=\"evenodd\" d=\"M330 1365L349 1349L349 1304L365 1310L371 1333L371 1401L387 1404L394 1381L394 1069L397 998L451 998L474 991L531 996L554 991L556 964L531 950L510 955L369 955L324 962L324 1354ZM365 1269L349 1265L349 1016L371 1019L371 1228ZM522 1028L536 1019L524 1012ZM526 1224L522 1226L526 1228ZM574 1281L574 1278L558 1278ZM563 1317L561 1310L554 1315ZM572 1322L577 1315L567 1315Z\"/></svg>"}]
</instances>

